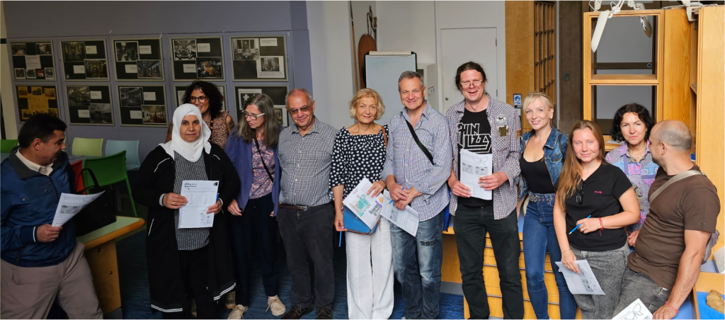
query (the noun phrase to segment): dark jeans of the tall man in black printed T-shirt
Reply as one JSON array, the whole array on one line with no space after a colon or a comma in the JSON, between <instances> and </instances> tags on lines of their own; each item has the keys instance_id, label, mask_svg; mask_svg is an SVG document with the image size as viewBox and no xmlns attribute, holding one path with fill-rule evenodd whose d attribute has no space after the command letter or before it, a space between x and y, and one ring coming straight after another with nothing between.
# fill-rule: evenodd
<instances>
[{"instance_id":1,"label":"dark jeans of the tall man in black printed T-shirt","mask_svg":"<svg viewBox=\"0 0 725 320\"><path fill-rule=\"evenodd\" d=\"M506 218L495 220L493 205L468 207L459 204L453 231L463 277L463 295L471 311L469 319L489 319L490 314L483 274L486 232L491 237L499 272L504 319L523 319L523 289L518 269L521 242L516 210Z\"/></svg>"}]
</instances>

